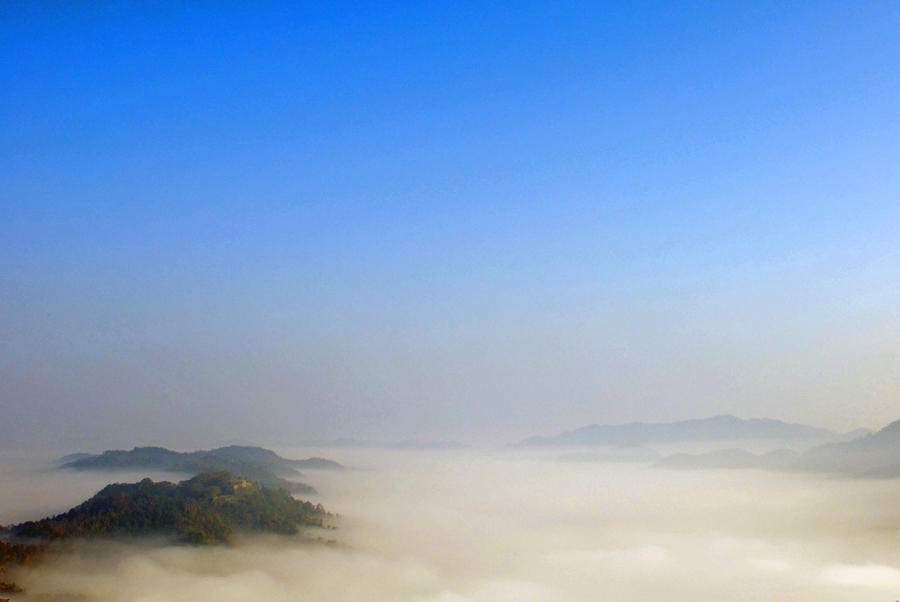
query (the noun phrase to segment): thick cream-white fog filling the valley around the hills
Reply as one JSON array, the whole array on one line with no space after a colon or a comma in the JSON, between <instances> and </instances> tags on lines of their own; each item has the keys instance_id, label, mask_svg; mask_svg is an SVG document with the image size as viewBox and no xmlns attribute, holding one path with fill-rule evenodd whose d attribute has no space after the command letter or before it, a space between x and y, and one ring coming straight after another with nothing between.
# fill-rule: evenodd
<instances>
[{"instance_id":1,"label":"thick cream-white fog filling the valley around the hills","mask_svg":"<svg viewBox=\"0 0 900 602\"><path fill-rule=\"evenodd\" d=\"M17 599L876 602L900 592L897 480L566 462L557 452L327 453L353 468L304 479L319 491L311 500L340 515L336 531L224 547L82 544L17 569ZM148 476L4 460L0 524Z\"/></svg>"}]
</instances>

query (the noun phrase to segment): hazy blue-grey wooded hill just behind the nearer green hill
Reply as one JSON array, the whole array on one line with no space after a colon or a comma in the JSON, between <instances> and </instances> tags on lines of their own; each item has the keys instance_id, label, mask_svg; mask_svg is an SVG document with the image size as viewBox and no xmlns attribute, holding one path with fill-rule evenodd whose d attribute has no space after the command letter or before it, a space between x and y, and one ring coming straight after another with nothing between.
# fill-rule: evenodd
<instances>
[{"instance_id":1,"label":"hazy blue-grey wooded hill just behind the nearer green hill","mask_svg":"<svg viewBox=\"0 0 900 602\"><path fill-rule=\"evenodd\" d=\"M305 483L285 477L300 477L297 468L341 469L343 466L324 458L289 460L262 447L232 445L208 451L174 452L162 447L136 447L131 451L105 451L99 456L77 454L61 468L75 470L160 470L186 474L227 471L256 481L264 487L283 488L299 493L315 493Z\"/></svg>"}]
</instances>

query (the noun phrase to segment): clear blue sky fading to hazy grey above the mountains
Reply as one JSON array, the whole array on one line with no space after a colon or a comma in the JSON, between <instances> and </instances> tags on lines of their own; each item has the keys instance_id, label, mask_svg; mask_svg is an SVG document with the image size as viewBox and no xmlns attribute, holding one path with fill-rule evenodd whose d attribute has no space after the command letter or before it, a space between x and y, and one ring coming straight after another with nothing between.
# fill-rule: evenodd
<instances>
[{"instance_id":1,"label":"clear blue sky fading to hazy grey above the mountains","mask_svg":"<svg viewBox=\"0 0 900 602\"><path fill-rule=\"evenodd\" d=\"M3 444L900 418L900 6L558 4L3 3Z\"/></svg>"}]
</instances>

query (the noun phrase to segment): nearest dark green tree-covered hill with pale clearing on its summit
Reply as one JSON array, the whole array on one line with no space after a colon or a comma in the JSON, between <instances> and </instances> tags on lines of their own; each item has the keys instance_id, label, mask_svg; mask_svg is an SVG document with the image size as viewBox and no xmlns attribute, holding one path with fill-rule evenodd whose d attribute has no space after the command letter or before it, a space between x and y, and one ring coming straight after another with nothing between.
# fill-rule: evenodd
<instances>
[{"instance_id":1,"label":"nearest dark green tree-covered hill with pale clearing on its summit","mask_svg":"<svg viewBox=\"0 0 900 602\"><path fill-rule=\"evenodd\" d=\"M9 529L15 538L54 541L72 538L174 536L185 543L230 541L235 534L295 534L323 526L330 516L321 505L294 499L228 472L203 473L173 484L109 485L65 514Z\"/></svg>"}]
</instances>

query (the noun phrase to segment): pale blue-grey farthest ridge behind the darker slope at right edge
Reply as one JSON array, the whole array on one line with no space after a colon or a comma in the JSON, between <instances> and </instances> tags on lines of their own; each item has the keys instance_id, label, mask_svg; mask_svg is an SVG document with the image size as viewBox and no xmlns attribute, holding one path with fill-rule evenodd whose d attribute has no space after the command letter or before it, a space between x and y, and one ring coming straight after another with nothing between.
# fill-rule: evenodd
<instances>
[{"instance_id":1,"label":"pale blue-grey farthest ridge behind the darker slope at right edge","mask_svg":"<svg viewBox=\"0 0 900 602\"><path fill-rule=\"evenodd\" d=\"M597 425L551 437L529 437L514 447L574 447L589 445L645 445L688 441L739 441L783 439L839 441L843 435L828 429L792 424L768 418L744 420L730 414L679 422Z\"/></svg>"}]
</instances>

